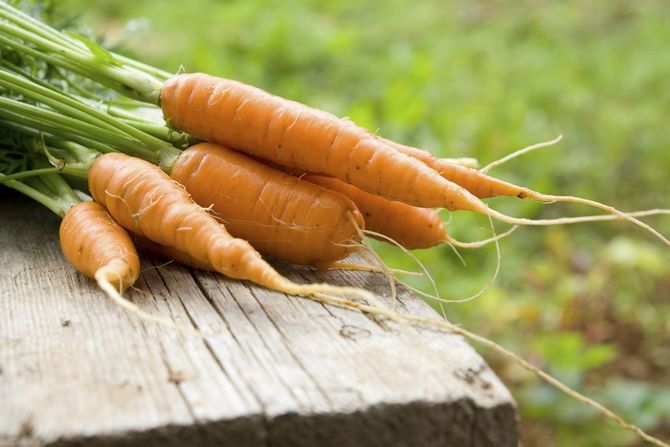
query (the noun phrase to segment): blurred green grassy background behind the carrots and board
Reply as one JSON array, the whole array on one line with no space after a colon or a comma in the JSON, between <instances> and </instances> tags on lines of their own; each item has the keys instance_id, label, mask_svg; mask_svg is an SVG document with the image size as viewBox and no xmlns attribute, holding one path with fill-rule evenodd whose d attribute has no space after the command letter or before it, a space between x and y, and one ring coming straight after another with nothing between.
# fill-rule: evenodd
<instances>
[{"instance_id":1,"label":"blurred green grassy background behind the carrots and board","mask_svg":"<svg viewBox=\"0 0 670 447\"><path fill-rule=\"evenodd\" d=\"M668 206L670 2L63 0L108 43L169 71L242 80L442 156L482 163L563 141L493 174L625 210ZM95 5L95 6L93 6ZM516 199L513 215L589 210ZM450 219L462 240L487 221ZM670 218L648 219L670 234ZM503 230L502 225L497 226ZM402 253L377 245L393 266ZM636 227L522 228L481 297L447 316L626 418L670 437L670 262ZM486 286L495 247L417 252L444 298ZM424 281L424 290L430 290ZM592 411L483 351L511 388L526 445L636 445Z\"/></svg>"}]
</instances>

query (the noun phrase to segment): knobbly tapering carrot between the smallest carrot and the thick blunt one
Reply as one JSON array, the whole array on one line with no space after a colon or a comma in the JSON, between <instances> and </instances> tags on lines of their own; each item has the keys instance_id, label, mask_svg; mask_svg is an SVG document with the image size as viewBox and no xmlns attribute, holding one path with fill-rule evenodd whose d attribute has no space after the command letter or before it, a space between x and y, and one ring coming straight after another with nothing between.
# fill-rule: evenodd
<instances>
[{"instance_id":1,"label":"knobbly tapering carrot between the smallest carrot and the thick blunt one","mask_svg":"<svg viewBox=\"0 0 670 447\"><path fill-rule=\"evenodd\" d=\"M374 300L361 289L300 285L283 277L248 242L232 237L181 185L149 162L120 153L102 155L93 163L88 183L95 200L123 227L228 277L291 295L354 294Z\"/></svg>"}]
</instances>

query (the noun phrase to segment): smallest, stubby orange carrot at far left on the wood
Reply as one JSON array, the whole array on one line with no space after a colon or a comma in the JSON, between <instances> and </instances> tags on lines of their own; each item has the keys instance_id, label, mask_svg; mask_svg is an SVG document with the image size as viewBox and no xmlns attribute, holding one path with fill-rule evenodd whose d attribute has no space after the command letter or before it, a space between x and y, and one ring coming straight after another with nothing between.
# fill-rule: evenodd
<instances>
[{"instance_id":1,"label":"smallest, stubby orange carrot at far left on the wood","mask_svg":"<svg viewBox=\"0 0 670 447\"><path fill-rule=\"evenodd\" d=\"M63 217L59 236L65 258L98 284L111 284L123 291L137 281L137 251L125 230L100 204L82 202L72 207Z\"/></svg>"}]
</instances>

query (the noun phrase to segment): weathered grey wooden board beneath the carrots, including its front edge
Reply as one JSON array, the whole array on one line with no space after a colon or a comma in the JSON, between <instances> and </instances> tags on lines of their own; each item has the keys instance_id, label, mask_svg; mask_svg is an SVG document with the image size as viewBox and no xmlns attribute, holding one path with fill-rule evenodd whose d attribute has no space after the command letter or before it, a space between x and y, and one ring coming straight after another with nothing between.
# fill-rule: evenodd
<instances>
[{"instance_id":1,"label":"weathered grey wooden board beneath the carrots, including its front edge","mask_svg":"<svg viewBox=\"0 0 670 447\"><path fill-rule=\"evenodd\" d=\"M55 216L0 194L0 445L517 443L512 398L458 336L152 259L128 296L215 335L146 325L64 261ZM376 274L283 271L388 290Z\"/></svg>"}]
</instances>

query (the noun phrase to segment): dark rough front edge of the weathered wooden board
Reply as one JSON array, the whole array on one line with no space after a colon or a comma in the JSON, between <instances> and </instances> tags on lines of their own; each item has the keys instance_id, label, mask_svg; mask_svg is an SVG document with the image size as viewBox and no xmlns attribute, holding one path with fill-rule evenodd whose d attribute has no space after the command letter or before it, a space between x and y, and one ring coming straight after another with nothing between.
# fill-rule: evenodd
<instances>
[{"instance_id":1,"label":"dark rough front edge of the weathered wooden board","mask_svg":"<svg viewBox=\"0 0 670 447\"><path fill-rule=\"evenodd\" d=\"M24 434L0 446L516 446L518 413L513 401L491 407L470 398L451 402L379 404L351 413L287 413L168 425L142 431L42 441Z\"/></svg>"}]
</instances>

